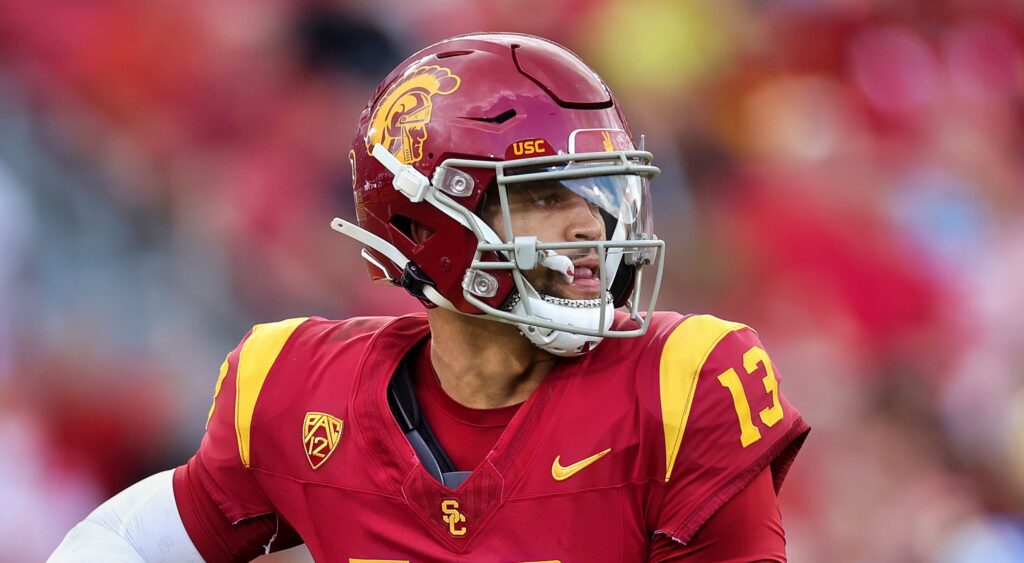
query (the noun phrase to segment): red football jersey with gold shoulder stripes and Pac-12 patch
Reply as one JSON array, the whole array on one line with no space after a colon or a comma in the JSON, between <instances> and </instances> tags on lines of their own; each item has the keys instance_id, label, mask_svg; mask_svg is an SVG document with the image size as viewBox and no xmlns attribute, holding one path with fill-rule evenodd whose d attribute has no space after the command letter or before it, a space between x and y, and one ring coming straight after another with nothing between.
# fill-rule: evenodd
<instances>
[{"instance_id":1,"label":"red football jersey with gold shoulder stripes and Pac-12 patch","mask_svg":"<svg viewBox=\"0 0 1024 563\"><path fill-rule=\"evenodd\" d=\"M766 467L777 489L809 429L754 331L656 313L643 337L559 360L449 489L386 397L428 330L422 314L255 327L221 366L203 488L232 522L276 514L317 561L642 561Z\"/></svg>"}]
</instances>

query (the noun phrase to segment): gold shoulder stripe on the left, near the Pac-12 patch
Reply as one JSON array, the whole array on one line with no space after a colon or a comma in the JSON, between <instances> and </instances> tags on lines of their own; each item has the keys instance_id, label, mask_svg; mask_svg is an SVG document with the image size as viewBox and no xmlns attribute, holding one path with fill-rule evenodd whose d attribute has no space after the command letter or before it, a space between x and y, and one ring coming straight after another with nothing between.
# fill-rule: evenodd
<instances>
[{"instance_id":1,"label":"gold shoulder stripe on the left, near the Pac-12 patch","mask_svg":"<svg viewBox=\"0 0 1024 563\"><path fill-rule=\"evenodd\" d=\"M242 463L249 467L249 440L252 431L253 412L256 410L256 400L263 389L270 367L278 359L278 354L285 347L288 338L295 329L302 324L307 316L289 318L281 322L257 324L242 345L239 353L239 375L234 387L234 433L239 438L239 456Z\"/></svg>"}]
</instances>

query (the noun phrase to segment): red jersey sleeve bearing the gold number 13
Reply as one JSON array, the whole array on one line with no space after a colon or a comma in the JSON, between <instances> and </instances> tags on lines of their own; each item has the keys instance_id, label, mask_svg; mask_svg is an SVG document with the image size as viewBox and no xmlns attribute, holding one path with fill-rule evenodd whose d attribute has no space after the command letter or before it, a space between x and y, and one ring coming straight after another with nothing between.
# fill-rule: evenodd
<instances>
[{"instance_id":1,"label":"red jersey sleeve bearing the gold number 13","mask_svg":"<svg viewBox=\"0 0 1024 563\"><path fill-rule=\"evenodd\" d=\"M655 529L687 543L766 468L777 492L810 427L743 324L687 317L666 342L659 377L666 473Z\"/></svg>"}]
</instances>

